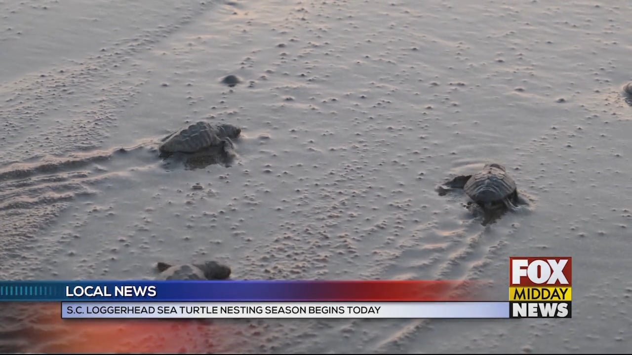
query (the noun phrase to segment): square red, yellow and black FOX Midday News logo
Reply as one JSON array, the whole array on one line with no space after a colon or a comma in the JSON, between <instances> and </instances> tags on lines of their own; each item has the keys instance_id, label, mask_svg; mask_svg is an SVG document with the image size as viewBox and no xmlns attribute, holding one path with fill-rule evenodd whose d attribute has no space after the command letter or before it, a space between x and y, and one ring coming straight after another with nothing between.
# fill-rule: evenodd
<instances>
[{"instance_id":1,"label":"square red, yellow and black FOX Midday News logo","mask_svg":"<svg viewBox=\"0 0 632 355\"><path fill-rule=\"evenodd\" d=\"M571 318L573 259L509 258L511 318Z\"/></svg>"}]
</instances>

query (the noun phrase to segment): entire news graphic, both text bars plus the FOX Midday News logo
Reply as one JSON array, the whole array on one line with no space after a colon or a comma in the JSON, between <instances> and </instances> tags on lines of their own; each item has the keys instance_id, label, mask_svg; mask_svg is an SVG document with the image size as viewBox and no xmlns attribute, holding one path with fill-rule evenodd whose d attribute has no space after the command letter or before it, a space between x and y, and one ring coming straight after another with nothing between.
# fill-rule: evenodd
<instances>
[{"instance_id":1,"label":"entire news graphic, both text bars plus the FOX Midday News logo","mask_svg":"<svg viewBox=\"0 0 632 355\"><path fill-rule=\"evenodd\" d=\"M61 318L571 318L571 257L509 258L508 301L486 299L486 285L457 280L9 281L0 282L0 301L61 302Z\"/></svg>"}]
</instances>

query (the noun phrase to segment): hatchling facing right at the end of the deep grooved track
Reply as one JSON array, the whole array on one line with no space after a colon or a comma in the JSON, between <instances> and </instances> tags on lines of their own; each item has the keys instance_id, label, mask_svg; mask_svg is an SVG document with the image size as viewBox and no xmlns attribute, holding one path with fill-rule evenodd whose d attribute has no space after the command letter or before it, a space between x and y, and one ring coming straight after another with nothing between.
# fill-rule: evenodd
<instances>
[{"instance_id":1,"label":"hatchling facing right at the end of the deep grooved track","mask_svg":"<svg viewBox=\"0 0 632 355\"><path fill-rule=\"evenodd\" d=\"M233 151L233 139L241 134L241 128L232 124L210 124L198 121L162 138L159 150L162 155L176 152L195 153L210 147L221 147L226 153Z\"/></svg>"}]
</instances>

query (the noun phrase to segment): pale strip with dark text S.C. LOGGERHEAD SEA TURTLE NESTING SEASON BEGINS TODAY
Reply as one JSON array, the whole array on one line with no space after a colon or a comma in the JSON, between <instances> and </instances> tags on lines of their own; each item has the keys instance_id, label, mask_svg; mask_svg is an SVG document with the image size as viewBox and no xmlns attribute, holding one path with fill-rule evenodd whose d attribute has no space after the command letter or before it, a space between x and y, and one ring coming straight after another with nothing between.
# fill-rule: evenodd
<instances>
[{"instance_id":1,"label":"pale strip with dark text S.C. LOGGERHEAD SEA TURTLE NESTING SEASON BEGINS TODAY","mask_svg":"<svg viewBox=\"0 0 632 355\"><path fill-rule=\"evenodd\" d=\"M62 318L509 318L509 302L63 302Z\"/></svg>"}]
</instances>

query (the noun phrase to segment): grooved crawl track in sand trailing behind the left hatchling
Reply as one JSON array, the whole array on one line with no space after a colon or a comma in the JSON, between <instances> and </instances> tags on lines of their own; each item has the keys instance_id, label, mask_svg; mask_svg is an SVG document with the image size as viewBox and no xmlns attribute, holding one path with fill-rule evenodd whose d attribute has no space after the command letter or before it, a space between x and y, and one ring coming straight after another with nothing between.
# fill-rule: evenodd
<instances>
[{"instance_id":1,"label":"grooved crawl track in sand trailing behind the left hatchling","mask_svg":"<svg viewBox=\"0 0 632 355\"><path fill-rule=\"evenodd\" d=\"M82 153L2 167L0 233L4 238L0 243L4 253L20 253L25 248L20 241L38 236L73 200L94 195L100 183L123 178L124 172L112 170L109 163L113 157L128 160L130 155L118 151Z\"/></svg>"}]
</instances>

